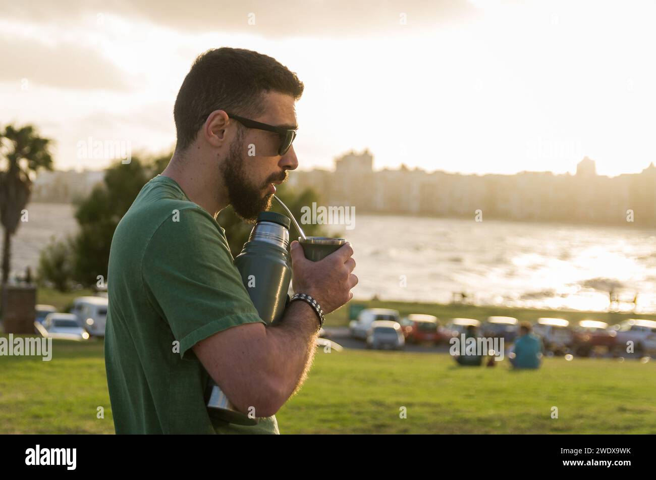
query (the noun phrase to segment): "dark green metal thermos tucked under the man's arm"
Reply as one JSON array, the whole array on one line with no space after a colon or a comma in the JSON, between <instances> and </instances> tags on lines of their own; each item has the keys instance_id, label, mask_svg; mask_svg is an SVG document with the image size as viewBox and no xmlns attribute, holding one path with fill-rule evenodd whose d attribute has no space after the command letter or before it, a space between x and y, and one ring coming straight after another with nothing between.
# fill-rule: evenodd
<instances>
[{"instance_id":1,"label":"dark green metal thermos tucked under the man's arm","mask_svg":"<svg viewBox=\"0 0 656 480\"><path fill-rule=\"evenodd\" d=\"M289 224L289 218L282 214L260 212L248 241L234 262L260 318L266 323L281 319L289 299ZM207 402L210 416L239 425L255 425L258 422L258 418L250 418L236 410L218 386L210 382L212 390Z\"/></svg>"}]
</instances>

